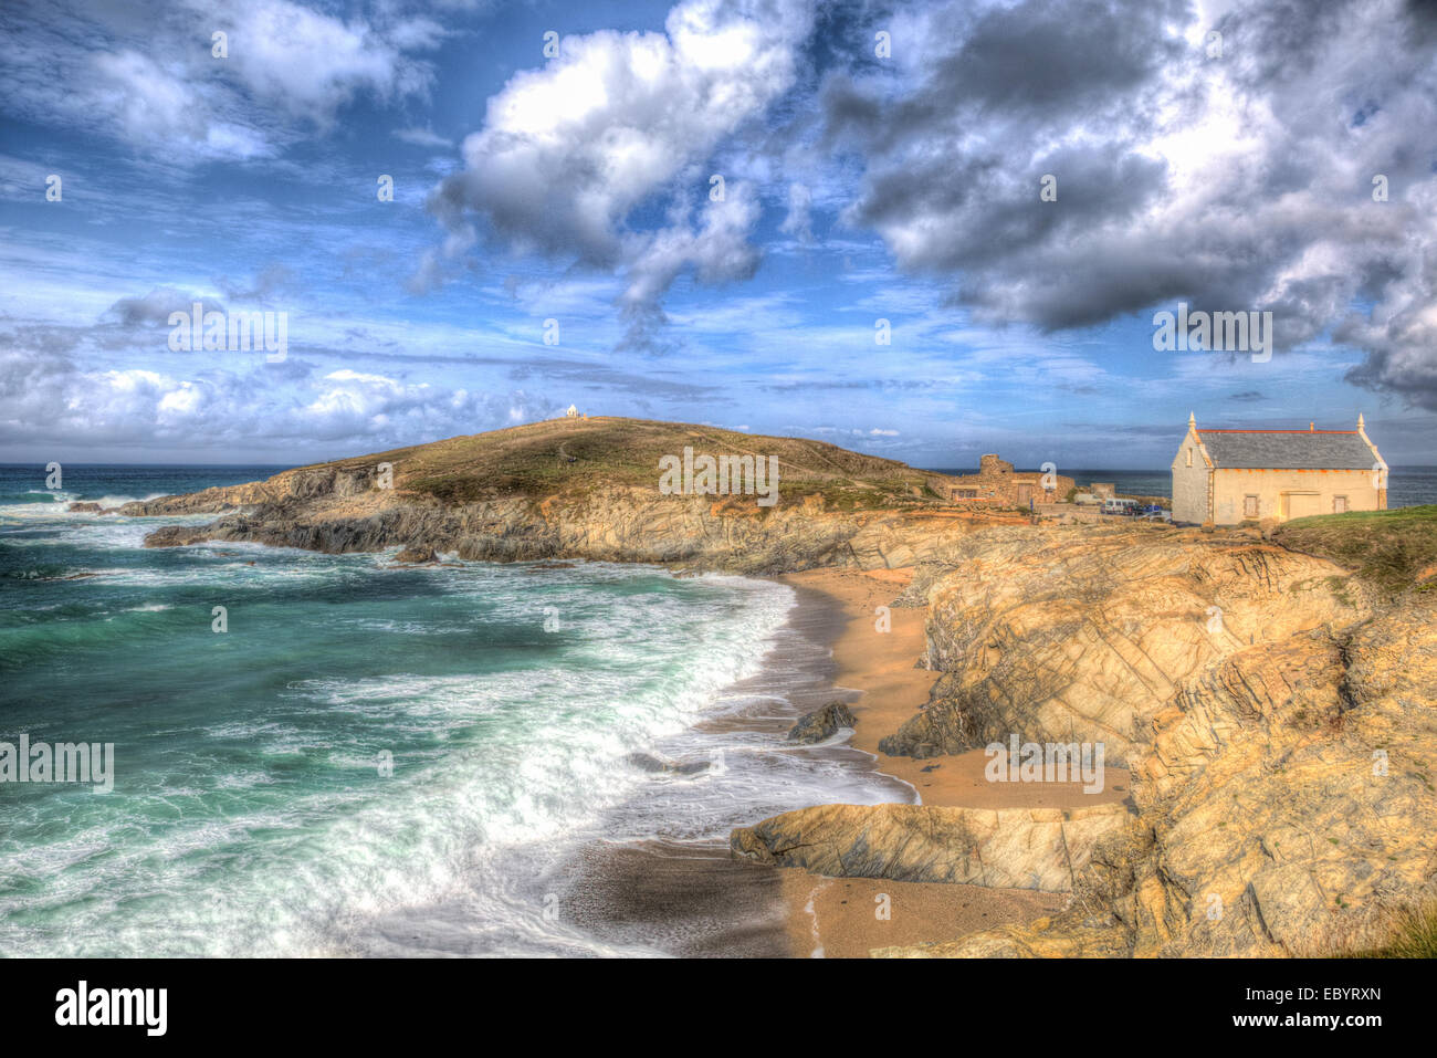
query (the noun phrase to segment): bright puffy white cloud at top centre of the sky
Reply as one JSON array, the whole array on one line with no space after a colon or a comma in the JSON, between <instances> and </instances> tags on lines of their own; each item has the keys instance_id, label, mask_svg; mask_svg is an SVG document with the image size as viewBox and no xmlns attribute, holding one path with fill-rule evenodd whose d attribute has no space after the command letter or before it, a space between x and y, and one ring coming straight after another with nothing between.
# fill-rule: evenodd
<instances>
[{"instance_id":1,"label":"bright puffy white cloud at top centre of the sky","mask_svg":"<svg viewBox=\"0 0 1437 1058\"><path fill-rule=\"evenodd\" d=\"M688 203L710 191L716 145L762 115L795 80L808 3L688 0L664 33L569 36L559 58L514 75L464 139L466 168L431 208L451 231L468 214L519 250L628 267L625 302L650 306L684 267L701 282L752 272L741 246L757 198L726 177L697 229ZM670 198L670 224L629 227L639 206Z\"/></svg>"}]
</instances>

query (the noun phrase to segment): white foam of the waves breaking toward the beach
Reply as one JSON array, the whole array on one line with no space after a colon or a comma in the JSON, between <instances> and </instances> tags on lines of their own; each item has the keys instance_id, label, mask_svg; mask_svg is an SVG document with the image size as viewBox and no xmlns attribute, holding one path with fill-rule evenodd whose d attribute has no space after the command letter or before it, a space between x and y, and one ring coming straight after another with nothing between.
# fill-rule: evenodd
<instances>
[{"instance_id":1,"label":"white foam of the waves breaking toward the beach","mask_svg":"<svg viewBox=\"0 0 1437 1058\"><path fill-rule=\"evenodd\" d=\"M257 568L262 578L316 582L366 561L289 561L274 552L267 559ZM572 581L572 591L560 592L563 621L582 635L539 670L293 681L269 719L208 726L217 753L234 745L272 763L240 770L217 763L208 783L155 779L128 788L132 811L111 825L37 847L26 868L57 871L37 908L63 908L69 921L63 937L46 937L46 952L96 953L96 936L106 937L106 954L348 950L376 916L456 901L468 923L483 924L486 952L619 950L549 920L535 873L604 837L615 812L622 818L632 795L654 782L625 758L683 740L724 687L754 674L793 594L772 582L711 578L706 586L723 589L711 598L615 597L585 584L654 574L593 566L522 581L527 575L512 569L467 569L470 578L444 581L450 594L506 608L509 624L542 618L543 592ZM142 589L230 578L223 561L114 572ZM132 610L152 608L162 604ZM366 631L389 634L379 625ZM316 733L316 716L339 714L359 723L342 735ZM421 735L427 743L395 755L392 775L376 782L387 739ZM296 795L273 781L270 768L280 765L333 778ZM233 798L243 801L230 809ZM137 837L137 828L149 837ZM0 901L3 921L14 910ZM0 943L27 950L34 937L3 921Z\"/></svg>"}]
</instances>

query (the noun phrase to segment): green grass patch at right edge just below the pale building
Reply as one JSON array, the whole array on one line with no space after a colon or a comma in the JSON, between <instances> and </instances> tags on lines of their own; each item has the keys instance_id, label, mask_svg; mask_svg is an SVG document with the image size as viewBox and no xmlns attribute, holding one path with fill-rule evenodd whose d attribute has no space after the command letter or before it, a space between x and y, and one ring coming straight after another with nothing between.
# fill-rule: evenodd
<instances>
[{"instance_id":1,"label":"green grass patch at right edge just below the pale building","mask_svg":"<svg viewBox=\"0 0 1437 1058\"><path fill-rule=\"evenodd\" d=\"M1437 565L1437 505L1299 518L1277 526L1273 539L1401 592Z\"/></svg>"}]
</instances>

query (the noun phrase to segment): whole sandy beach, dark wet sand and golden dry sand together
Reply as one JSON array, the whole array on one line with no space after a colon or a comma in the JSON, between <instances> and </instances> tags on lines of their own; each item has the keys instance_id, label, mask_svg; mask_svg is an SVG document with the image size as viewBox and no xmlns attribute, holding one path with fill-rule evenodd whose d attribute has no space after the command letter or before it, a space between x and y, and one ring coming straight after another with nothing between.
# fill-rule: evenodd
<instances>
[{"instance_id":1,"label":"whole sandy beach, dark wet sand and golden dry sand together","mask_svg":"<svg viewBox=\"0 0 1437 1058\"><path fill-rule=\"evenodd\" d=\"M848 746L802 752L844 755L848 768L881 773L872 778L891 783L892 801L1036 808L1125 799L1128 775L1117 768L1106 769L1106 789L1089 795L1079 783L990 783L981 749L927 760L878 752L879 739L927 703L940 676L917 667L925 651L927 608L891 605L911 575L908 569L819 569L777 578L798 592L790 615L795 634L766 658L763 676L746 681L759 699L775 697L698 727L759 732L777 743L799 714L845 700L856 720ZM877 607L890 607L890 631L877 630ZM783 707L776 704L779 697L786 700ZM831 799L841 801L841 795ZM734 825L754 822L744 818ZM760 867L733 860L726 840L595 842L572 870L578 884L563 898L565 914L586 933L678 956L867 957L875 947L954 940L1032 921L1066 901L1032 890L826 878Z\"/></svg>"}]
</instances>

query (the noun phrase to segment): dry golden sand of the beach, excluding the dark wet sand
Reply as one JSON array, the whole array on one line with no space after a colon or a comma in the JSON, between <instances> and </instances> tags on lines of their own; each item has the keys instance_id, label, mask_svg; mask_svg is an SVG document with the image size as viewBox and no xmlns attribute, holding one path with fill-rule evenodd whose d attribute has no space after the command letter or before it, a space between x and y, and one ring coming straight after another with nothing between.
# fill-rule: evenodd
<instances>
[{"instance_id":1,"label":"dry golden sand of the beach, excluding the dark wet sand","mask_svg":"<svg viewBox=\"0 0 1437 1058\"><path fill-rule=\"evenodd\" d=\"M1076 808L1128 796L1128 773L1106 769L1106 789L1085 794L1081 783L990 783L981 749L927 760L878 750L928 700L938 673L918 668L924 654L925 607L894 607L912 579L911 569L813 569L780 581L821 592L841 614L833 640L833 697L849 702L856 720L851 745L877 758L879 770L917 791L925 805L971 808ZM888 607L888 631L878 631L878 607ZM787 930L793 956L865 957L871 949L951 940L1012 921L1030 921L1061 908L1065 897L981 886L825 878L783 870Z\"/></svg>"}]
</instances>

